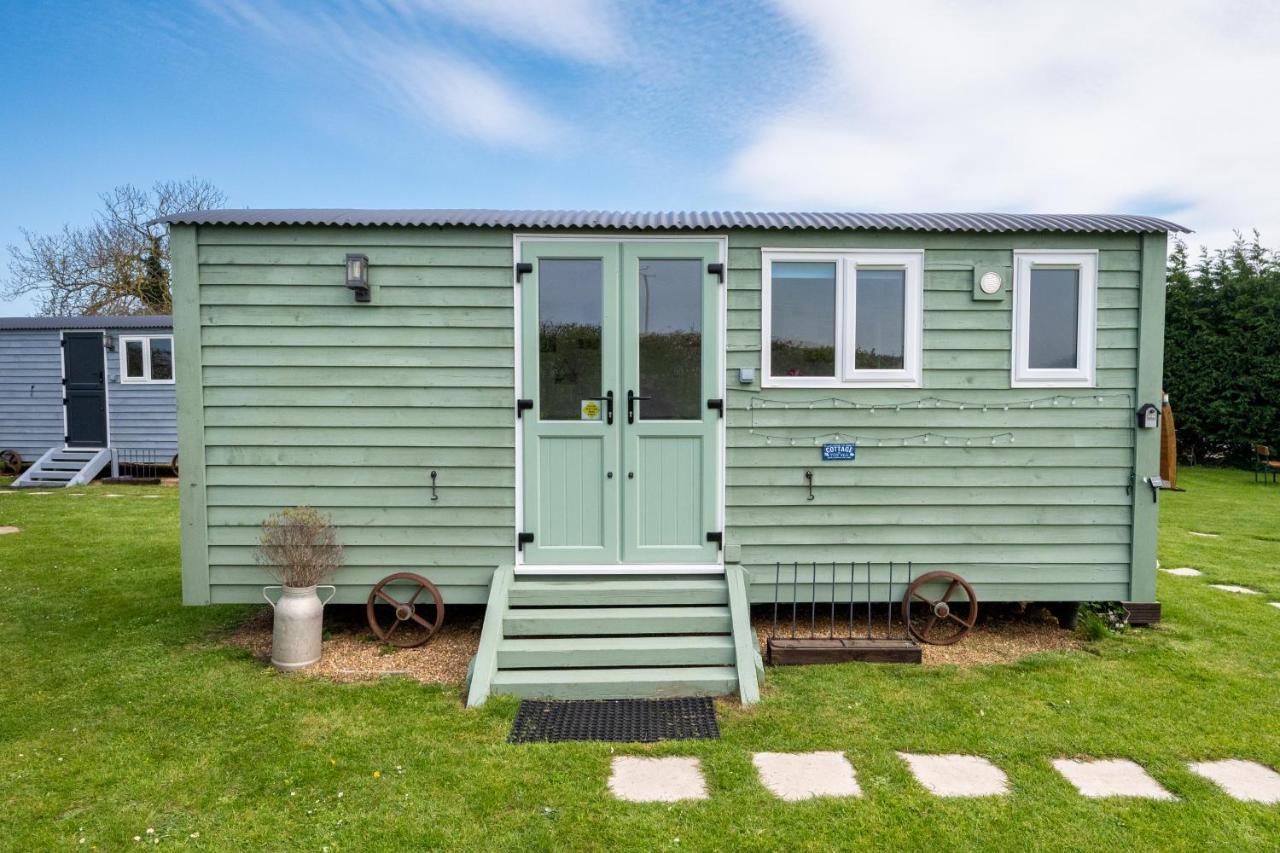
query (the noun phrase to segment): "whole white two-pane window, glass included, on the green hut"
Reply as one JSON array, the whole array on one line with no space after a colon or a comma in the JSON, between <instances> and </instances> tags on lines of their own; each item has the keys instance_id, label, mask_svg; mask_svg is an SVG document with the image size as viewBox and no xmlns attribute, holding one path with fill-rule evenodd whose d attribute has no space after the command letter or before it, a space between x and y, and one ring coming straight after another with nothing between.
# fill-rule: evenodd
<instances>
[{"instance_id":1,"label":"whole white two-pane window, glass included, on the green hut","mask_svg":"<svg viewBox=\"0 0 1280 853\"><path fill-rule=\"evenodd\" d=\"M764 250L769 388L918 387L920 252Z\"/></svg>"}]
</instances>

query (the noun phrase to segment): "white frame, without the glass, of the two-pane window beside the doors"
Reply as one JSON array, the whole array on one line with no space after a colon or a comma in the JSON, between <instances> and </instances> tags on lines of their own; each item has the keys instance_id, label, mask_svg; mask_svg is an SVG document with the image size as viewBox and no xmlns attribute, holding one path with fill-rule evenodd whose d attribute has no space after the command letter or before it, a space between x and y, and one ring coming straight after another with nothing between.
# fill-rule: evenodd
<instances>
[{"instance_id":1,"label":"white frame, without the glass, of the two-pane window beside the doors","mask_svg":"<svg viewBox=\"0 0 1280 853\"><path fill-rule=\"evenodd\" d=\"M924 250L760 250L760 387L762 388L919 388L922 386L922 333L924 327ZM773 375L773 264L778 261L836 265L836 375ZM906 273L902 318L902 369L854 368L856 345L858 269L901 269Z\"/></svg>"}]
</instances>

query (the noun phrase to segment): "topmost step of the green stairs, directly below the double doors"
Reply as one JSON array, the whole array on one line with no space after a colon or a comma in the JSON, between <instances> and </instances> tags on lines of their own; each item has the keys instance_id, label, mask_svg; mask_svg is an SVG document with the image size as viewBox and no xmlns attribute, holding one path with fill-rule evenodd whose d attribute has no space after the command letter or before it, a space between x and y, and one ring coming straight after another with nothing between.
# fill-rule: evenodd
<instances>
[{"instance_id":1,"label":"topmost step of the green stairs, directly below the double doors","mask_svg":"<svg viewBox=\"0 0 1280 853\"><path fill-rule=\"evenodd\" d=\"M728 587L716 579L517 580L509 593L512 607L588 607L607 605L727 605Z\"/></svg>"}]
</instances>

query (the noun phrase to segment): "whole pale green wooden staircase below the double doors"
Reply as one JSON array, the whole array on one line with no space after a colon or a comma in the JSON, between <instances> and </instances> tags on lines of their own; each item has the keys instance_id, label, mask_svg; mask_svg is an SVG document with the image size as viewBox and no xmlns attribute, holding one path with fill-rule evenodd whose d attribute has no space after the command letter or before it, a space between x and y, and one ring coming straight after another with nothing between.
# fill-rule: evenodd
<instances>
[{"instance_id":1,"label":"whole pale green wooden staircase below the double doors","mask_svg":"<svg viewBox=\"0 0 1280 853\"><path fill-rule=\"evenodd\" d=\"M467 704L541 699L759 695L744 576L494 573ZM735 584L741 594L735 594ZM744 674L745 670L745 674Z\"/></svg>"}]
</instances>

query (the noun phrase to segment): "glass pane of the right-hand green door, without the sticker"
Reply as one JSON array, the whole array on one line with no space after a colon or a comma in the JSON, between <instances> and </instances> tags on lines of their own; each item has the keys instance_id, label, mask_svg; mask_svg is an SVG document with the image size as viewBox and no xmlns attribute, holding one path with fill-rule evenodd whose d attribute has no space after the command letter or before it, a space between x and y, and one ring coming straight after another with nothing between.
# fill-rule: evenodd
<instances>
[{"instance_id":1,"label":"glass pane of the right-hand green door, without the sticker","mask_svg":"<svg viewBox=\"0 0 1280 853\"><path fill-rule=\"evenodd\" d=\"M640 260L644 420L701 420L703 261Z\"/></svg>"}]
</instances>

